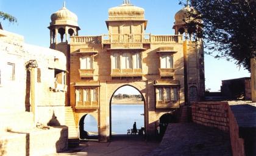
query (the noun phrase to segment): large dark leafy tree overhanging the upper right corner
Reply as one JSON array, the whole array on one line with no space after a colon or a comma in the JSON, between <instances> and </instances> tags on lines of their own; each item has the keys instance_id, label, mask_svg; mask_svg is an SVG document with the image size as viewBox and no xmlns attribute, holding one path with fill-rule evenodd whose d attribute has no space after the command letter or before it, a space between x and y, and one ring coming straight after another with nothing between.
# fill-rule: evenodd
<instances>
[{"instance_id":1,"label":"large dark leafy tree overhanging the upper right corner","mask_svg":"<svg viewBox=\"0 0 256 156\"><path fill-rule=\"evenodd\" d=\"M250 59L256 56L256 1L188 1L193 9L187 18L195 19L185 20L188 30L193 29L195 36L204 38L206 53L215 58L235 59L236 65L250 70Z\"/></svg>"}]
</instances>

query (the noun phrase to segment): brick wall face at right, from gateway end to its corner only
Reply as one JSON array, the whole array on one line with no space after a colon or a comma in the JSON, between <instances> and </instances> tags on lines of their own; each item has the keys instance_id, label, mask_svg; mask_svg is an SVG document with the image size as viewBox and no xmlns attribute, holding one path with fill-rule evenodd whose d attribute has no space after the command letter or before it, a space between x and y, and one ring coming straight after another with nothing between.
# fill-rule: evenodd
<instances>
[{"instance_id":1,"label":"brick wall face at right, from gateway end to its corner only","mask_svg":"<svg viewBox=\"0 0 256 156\"><path fill-rule=\"evenodd\" d=\"M194 123L229 131L229 104L227 102L200 102L192 104Z\"/></svg>"}]
</instances>

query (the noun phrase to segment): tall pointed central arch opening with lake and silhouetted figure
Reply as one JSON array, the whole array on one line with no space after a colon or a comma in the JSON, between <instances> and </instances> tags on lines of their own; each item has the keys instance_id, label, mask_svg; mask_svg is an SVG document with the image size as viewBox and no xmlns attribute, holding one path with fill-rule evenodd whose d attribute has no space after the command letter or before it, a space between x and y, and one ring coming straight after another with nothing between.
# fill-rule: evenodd
<instances>
[{"instance_id":1,"label":"tall pointed central arch opening with lake and silhouetted figure","mask_svg":"<svg viewBox=\"0 0 256 156\"><path fill-rule=\"evenodd\" d=\"M110 138L145 135L145 122L145 100L140 90L130 85L116 89L110 100Z\"/></svg>"}]
</instances>

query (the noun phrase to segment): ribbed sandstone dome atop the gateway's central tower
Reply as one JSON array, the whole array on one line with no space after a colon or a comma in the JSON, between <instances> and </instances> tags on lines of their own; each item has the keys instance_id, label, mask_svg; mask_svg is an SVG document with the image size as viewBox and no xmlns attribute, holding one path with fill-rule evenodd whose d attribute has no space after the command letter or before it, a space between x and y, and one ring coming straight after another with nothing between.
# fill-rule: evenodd
<instances>
[{"instance_id":1,"label":"ribbed sandstone dome atop the gateway's central tower","mask_svg":"<svg viewBox=\"0 0 256 156\"><path fill-rule=\"evenodd\" d=\"M140 7L135 7L132 4L122 4L118 7L112 7L108 10L109 16L131 16L131 15L144 15L144 9Z\"/></svg>"}]
</instances>

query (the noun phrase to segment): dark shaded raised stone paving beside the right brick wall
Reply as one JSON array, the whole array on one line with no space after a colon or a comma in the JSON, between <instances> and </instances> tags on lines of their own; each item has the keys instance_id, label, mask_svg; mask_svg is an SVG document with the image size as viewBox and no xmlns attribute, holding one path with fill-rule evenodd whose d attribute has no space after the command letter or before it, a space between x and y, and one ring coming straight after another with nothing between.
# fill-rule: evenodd
<instances>
[{"instance_id":1,"label":"dark shaded raised stone paving beside the right brick wall","mask_svg":"<svg viewBox=\"0 0 256 156\"><path fill-rule=\"evenodd\" d=\"M231 156L229 134L195 123L170 123L160 146L147 156Z\"/></svg>"}]
</instances>

